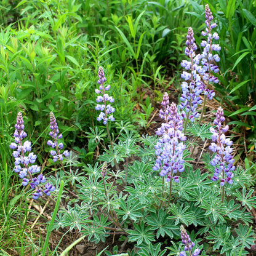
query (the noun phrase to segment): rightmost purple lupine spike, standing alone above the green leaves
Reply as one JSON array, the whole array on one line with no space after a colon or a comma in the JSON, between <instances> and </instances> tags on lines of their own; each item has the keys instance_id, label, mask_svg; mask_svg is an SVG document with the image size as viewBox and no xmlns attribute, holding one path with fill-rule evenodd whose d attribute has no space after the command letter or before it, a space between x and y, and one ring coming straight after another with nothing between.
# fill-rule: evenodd
<instances>
[{"instance_id":1,"label":"rightmost purple lupine spike, standing alone above the green leaves","mask_svg":"<svg viewBox=\"0 0 256 256\"><path fill-rule=\"evenodd\" d=\"M215 130L213 127L210 128L213 142L209 146L209 149L216 153L214 159L210 162L212 166L215 166L215 173L212 180L217 181L220 179L221 186L224 186L225 182L229 184L233 183L233 170L236 168L233 166L234 159L231 155L233 151L231 145L233 142L230 138L226 138L225 132L228 130L228 125L223 126L224 121L223 109L220 106L217 110L216 118L214 119L214 124L217 126L217 129Z\"/></svg>"}]
</instances>

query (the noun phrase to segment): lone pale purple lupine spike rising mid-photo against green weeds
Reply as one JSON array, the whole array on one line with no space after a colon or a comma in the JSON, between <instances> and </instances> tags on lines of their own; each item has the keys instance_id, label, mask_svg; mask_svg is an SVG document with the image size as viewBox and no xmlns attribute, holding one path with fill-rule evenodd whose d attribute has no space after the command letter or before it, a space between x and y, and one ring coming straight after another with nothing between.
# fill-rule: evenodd
<instances>
[{"instance_id":1,"label":"lone pale purple lupine spike rising mid-photo against green weeds","mask_svg":"<svg viewBox=\"0 0 256 256\"><path fill-rule=\"evenodd\" d=\"M108 104L107 102L113 103L114 98L112 96L109 96L105 92L110 90L110 84L108 86L104 86L104 83L106 82L106 78L104 75L104 71L102 66L98 68L98 84L100 85L99 89L95 89L96 94L102 94L99 95L96 99L97 103L103 102L103 104L97 104L95 106L95 110L100 110L100 114L97 118L98 121L102 121L103 119L103 124L106 124L108 120L114 121L113 114L114 113L114 108Z\"/></svg>"}]
</instances>

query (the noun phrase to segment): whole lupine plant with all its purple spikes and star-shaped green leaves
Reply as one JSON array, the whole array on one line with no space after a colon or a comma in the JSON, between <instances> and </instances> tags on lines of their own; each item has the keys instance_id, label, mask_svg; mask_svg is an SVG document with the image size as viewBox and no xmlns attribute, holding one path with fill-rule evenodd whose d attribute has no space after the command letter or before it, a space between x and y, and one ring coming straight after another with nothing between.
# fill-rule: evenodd
<instances>
[{"instance_id":1,"label":"whole lupine plant with all its purple spikes and star-shaped green leaves","mask_svg":"<svg viewBox=\"0 0 256 256\"><path fill-rule=\"evenodd\" d=\"M53 232L68 228L77 236L81 234L68 248L71 249L84 238L98 243L112 236L114 242L117 239L122 242L121 247L114 247L114 251L121 254L129 244L131 250L127 254L131 256L248 254L247 250L255 240L250 210L256 207L256 196L253 194L254 188L250 187L250 170L233 166L231 139L225 135L229 127L223 124L225 118L222 108L217 110L214 126L209 128L210 125L198 124L201 131L209 128L207 132L201 132L199 137L202 140L212 138L209 149L214 154L205 153L200 165L189 158L188 137L194 134L190 132L191 129L186 130L186 126L189 122L197 122L199 118L198 105L202 103L200 95L204 92L207 97L210 95L208 99L214 97L214 92L207 90L208 81L216 81L210 72L218 70L214 64L218 57L211 55L211 50L218 49L217 46L214 48L211 38L218 37L210 36L215 25L210 25L212 14L209 6L206 6L206 19L209 41L203 43L204 57L195 54L197 47L194 32L189 28L185 54L190 60L182 62L188 72L182 74L185 82L182 83L180 104L178 108L175 103L170 104L168 93L164 93L159 110L163 122L156 130L156 135L140 136L129 124L114 119L114 108L107 103L114 102L113 97L106 94L110 86L104 85L105 74L103 68L99 68L100 87L95 89L99 94L95 110L101 111L97 120L103 121L103 129L106 129L107 134L98 127L92 127L91 132L87 133L89 139L98 143L97 146L102 146L98 148L100 155L94 165L87 164L73 174L76 194L72 195L76 201L66 206L62 204L51 221ZM110 134L110 123L120 130L116 137ZM58 139L62 135L53 113L50 113L50 129L52 140L47 145L54 149L50 154L55 164L58 161L62 164L63 156L69 153L61 153L63 143L58 143ZM31 143L22 144L26 137L23 130L22 115L18 113L15 143L10 145L12 149L17 149L14 151L14 170L21 175L23 182L34 184L30 186L36 189L36 199L41 195L39 184L46 182L46 178L39 175L33 180L31 176L31 172L39 172L40 169L31 167L36 159L33 153L25 156L26 151L31 151ZM109 147L103 143L106 136ZM76 167L71 164L70 169ZM24 180L25 174L28 175L27 180ZM70 193L67 188L70 177L66 177L65 173L47 178L53 185L51 188L47 185L46 194L54 190L54 186L58 188L61 181L65 181L66 193ZM217 183L219 179L220 186ZM65 201L66 197L63 196L62 200ZM114 252L106 250L105 253L110 256Z\"/></svg>"}]
</instances>

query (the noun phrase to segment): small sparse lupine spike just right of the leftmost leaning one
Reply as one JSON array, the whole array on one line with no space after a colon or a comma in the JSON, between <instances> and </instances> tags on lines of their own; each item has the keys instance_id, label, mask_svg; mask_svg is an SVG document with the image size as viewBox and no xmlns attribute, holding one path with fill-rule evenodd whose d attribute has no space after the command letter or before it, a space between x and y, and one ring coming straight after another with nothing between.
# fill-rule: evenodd
<instances>
[{"instance_id":1,"label":"small sparse lupine spike just right of the leftmost leaning one","mask_svg":"<svg viewBox=\"0 0 256 256\"><path fill-rule=\"evenodd\" d=\"M51 131L49 132L50 136L54 139L54 141L52 142L52 140L48 140L47 145L51 146L53 149L55 150L51 150L50 154L54 157L54 162L60 160L63 160L63 156L69 156L70 153L65 150L63 151L63 153L61 154L60 151L63 149L64 145L62 142L58 143L58 138L62 138L62 134L59 134L60 131L58 130L58 124L56 122L56 118L54 116L54 113L50 112L50 129Z\"/></svg>"}]
</instances>

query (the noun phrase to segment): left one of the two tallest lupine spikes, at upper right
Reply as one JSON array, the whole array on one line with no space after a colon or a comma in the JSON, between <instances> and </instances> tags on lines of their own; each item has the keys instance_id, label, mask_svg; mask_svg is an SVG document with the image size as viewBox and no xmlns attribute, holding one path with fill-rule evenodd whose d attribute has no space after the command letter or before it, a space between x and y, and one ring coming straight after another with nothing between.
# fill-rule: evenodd
<instances>
[{"instance_id":1,"label":"left one of the two tallest lupine spikes, at upper right","mask_svg":"<svg viewBox=\"0 0 256 256\"><path fill-rule=\"evenodd\" d=\"M188 56L190 60L183 60L181 63L181 66L188 71L183 71L181 74L181 77L185 81L182 82L181 103L178 106L182 110L182 119L186 119L186 123L188 122L188 119L193 122L195 118L199 118L197 108L198 105L202 103L200 94L204 90L201 77L198 74L200 67L198 66L199 62L195 54L197 48L198 47L194 42L193 29L188 28L185 55Z\"/></svg>"}]
</instances>

